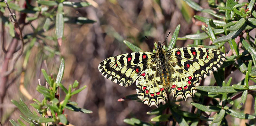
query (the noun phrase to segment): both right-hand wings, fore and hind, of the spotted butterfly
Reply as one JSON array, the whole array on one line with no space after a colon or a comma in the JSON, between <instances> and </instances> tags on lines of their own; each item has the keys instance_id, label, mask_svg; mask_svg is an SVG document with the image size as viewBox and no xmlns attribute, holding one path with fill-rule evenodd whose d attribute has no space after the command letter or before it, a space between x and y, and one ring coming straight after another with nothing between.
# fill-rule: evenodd
<instances>
[{"instance_id":1,"label":"both right-hand wings, fore and hind, of the spotted butterfly","mask_svg":"<svg viewBox=\"0 0 256 126\"><path fill-rule=\"evenodd\" d=\"M225 54L219 50L184 47L166 52L176 74L172 74L171 96L178 99L192 97L199 79L216 71L224 62Z\"/></svg>"}]
</instances>

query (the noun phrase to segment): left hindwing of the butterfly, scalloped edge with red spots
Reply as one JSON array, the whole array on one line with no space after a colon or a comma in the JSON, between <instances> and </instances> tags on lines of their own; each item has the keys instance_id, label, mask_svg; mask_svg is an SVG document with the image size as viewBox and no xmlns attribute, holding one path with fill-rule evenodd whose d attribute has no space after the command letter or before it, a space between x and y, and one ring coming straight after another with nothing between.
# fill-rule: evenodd
<instances>
[{"instance_id":1,"label":"left hindwing of the butterfly, scalloped edge with red spots","mask_svg":"<svg viewBox=\"0 0 256 126\"><path fill-rule=\"evenodd\" d=\"M168 99L161 76L159 75L159 59L153 56L147 69L140 75L136 81L136 91L138 98L148 106L159 106L165 104Z\"/></svg>"}]
</instances>

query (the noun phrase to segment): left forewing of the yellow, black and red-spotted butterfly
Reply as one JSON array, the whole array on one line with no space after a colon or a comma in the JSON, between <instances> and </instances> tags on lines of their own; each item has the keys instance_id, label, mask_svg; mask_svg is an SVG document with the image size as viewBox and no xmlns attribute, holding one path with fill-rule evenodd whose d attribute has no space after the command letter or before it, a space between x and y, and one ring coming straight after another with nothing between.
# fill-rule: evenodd
<instances>
[{"instance_id":1,"label":"left forewing of the yellow, black and red-spotted butterfly","mask_svg":"<svg viewBox=\"0 0 256 126\"><path fill-rule=\"evenodd\" d=\"M121 86L130 86L147 69L153 52L132 52L103 60L99 71L108 80Z\"/></svg>"}]
</instances>

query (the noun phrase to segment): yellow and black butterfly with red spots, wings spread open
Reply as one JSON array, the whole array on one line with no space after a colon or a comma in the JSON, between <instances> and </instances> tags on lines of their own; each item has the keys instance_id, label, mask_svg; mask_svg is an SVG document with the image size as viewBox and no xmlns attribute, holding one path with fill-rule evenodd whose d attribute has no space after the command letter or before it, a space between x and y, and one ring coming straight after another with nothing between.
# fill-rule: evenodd
<instances>
[{"instance_id":1,"label":"yellow and black butterfly with red spots, wings spread open","mask_svg":"<svg viewBox=\"0 0 256 126\"><path fill-rule=\"evenodd\" d=\"M148 106L165 104L168 99L193 97L199 80L223 64L225 53L216 49L181 47L156 52L121 54L103 60L99 71L108 80L128 87L136 83L138 98Z\"/></svg>"}]
</instances>

